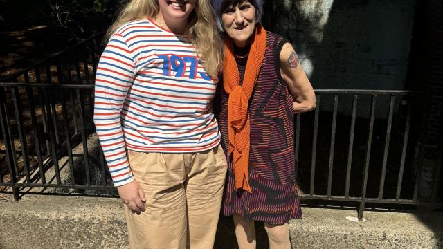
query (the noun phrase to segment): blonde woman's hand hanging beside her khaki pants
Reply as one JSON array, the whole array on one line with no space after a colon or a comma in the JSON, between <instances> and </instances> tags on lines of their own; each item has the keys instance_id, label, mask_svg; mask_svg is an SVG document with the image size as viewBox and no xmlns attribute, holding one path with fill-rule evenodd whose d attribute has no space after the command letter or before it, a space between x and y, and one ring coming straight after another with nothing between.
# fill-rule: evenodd
<instances>
[{"instance_id":1,"label":"blonde woman's hand hanging beside her khaki pants","mask_svg":"<svg viewBox=\"0 0 443 249\"><path fill-rule=\"evenodd\" d=\"M125 185L121 185L117 187L118 195L120 199L123 200L129 210L132 212L136 212L137 214L141 214L145 209L145 192L143 192L142 188L138 183L134 180Z\"/></svg>"}]
</instances>

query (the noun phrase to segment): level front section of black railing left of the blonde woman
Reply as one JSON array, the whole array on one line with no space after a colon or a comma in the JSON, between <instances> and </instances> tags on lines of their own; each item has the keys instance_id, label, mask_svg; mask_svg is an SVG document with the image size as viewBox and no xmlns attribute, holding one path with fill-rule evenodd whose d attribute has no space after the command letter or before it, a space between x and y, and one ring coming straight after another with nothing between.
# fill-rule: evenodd
<instances>
[{"instance_id":1,"label":"level front section of black railing left of the blonde woman","mask_svg":"<svg viewBox=\"0 0 443 249\"><path fill-rule=\"evenodd\" d=\"M94 184L96 176L91 176L91 162L101 160L91 146L92 93L92 84L0 84L5 147L0 153L6 159L0 162L0 185L12 187L17 197L24 187L112 189L106 182Z\"/></svg>"}]
</instances>

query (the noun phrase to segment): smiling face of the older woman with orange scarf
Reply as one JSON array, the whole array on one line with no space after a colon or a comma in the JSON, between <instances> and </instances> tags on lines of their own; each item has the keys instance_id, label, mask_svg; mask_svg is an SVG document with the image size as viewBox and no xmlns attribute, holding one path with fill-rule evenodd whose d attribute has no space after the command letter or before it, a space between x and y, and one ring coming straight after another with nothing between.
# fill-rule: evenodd
<instances>
[{"instance_id":1,"label":"smiling face of the older woman with orange scarf","mask_svg":"<svg viewBox=\"0 0 443 249\"><path fill-rule=\"evenodd\" d=\"M244 1L237 6L230 6L221 13L221 21L236 46L242 48L251 43L256 23L255 8L251 3Z\"/></svg>"}]
</instances>

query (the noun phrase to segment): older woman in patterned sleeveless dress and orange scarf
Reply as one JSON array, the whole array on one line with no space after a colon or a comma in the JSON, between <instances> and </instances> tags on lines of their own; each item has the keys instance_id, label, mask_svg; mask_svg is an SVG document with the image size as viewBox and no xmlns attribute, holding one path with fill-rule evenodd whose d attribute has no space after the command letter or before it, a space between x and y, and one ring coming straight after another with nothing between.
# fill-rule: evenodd
<instances>
[{"instance_id":1,"label":"older woman in patterned sleeveless dress and orange scarf","mask_svg":"<svg viewBox=\"0 0 443 249\"><path fill-rule=\"evenodd\" d=\"M225 31L219 126L228 156L224 214L233 215L239 248L255 248L253 221L264 221L271 248L290 248L290 219L300 219L293 113L315 94L287 40L259 24L262 1L213 1Z\"/></svg>"}]
</instances>

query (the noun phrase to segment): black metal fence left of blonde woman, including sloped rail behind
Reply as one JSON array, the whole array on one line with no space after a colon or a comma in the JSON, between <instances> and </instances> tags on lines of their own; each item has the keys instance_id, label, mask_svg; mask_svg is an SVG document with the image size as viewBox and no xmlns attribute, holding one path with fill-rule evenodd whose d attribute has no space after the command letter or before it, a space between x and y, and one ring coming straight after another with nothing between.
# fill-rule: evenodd
<instances>
[{"instance_id":1,"label":"black metal fence left of blonde woman, including sloped rail behind","mask_svg":"<svg viewBox=\"0 0 443 249\"><path fill-rule=\"evenodd\" d=\"M25 187L113 189L91 185L89 170L93 78L103 35L1 80L0 186L7 186L3 191L12 191L15 199ZM82 149L75 151L79 145Z\"/></svg>"}]
</instances>

